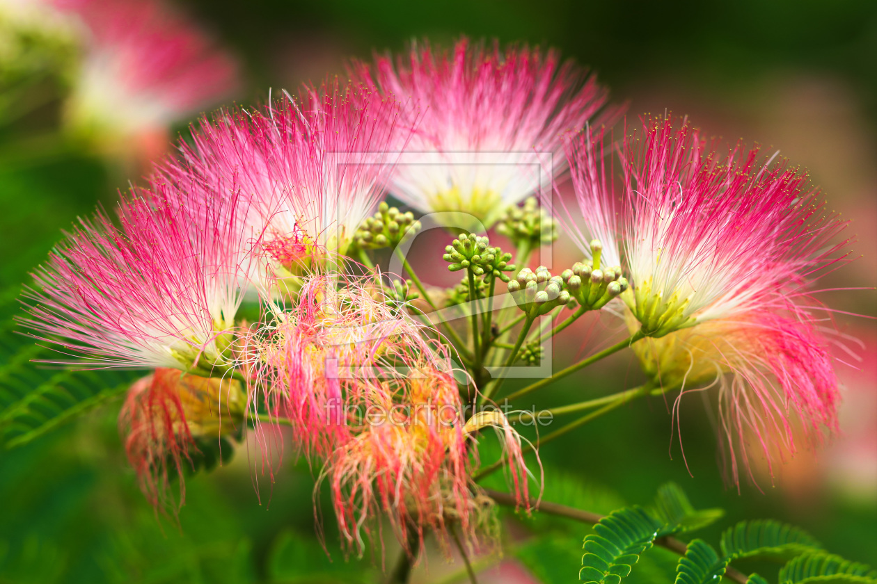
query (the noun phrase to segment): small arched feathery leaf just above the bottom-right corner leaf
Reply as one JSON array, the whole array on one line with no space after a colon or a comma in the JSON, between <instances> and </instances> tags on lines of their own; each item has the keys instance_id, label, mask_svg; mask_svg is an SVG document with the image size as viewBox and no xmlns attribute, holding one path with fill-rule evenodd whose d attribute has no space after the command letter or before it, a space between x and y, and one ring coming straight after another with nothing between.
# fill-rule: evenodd
<instances>
[{"instance_id":1,"label":"small arched feathery leaf just above the bottom-right corner leaf","mask_svg":"<svg viewBox=\"0 0 877 584\"><path fill-rule=\"evenodd\" d=\"M773 519L741 521L722 534L722 552L731 559L822 549L807 531Z\"/></svg>"}]
</instances>

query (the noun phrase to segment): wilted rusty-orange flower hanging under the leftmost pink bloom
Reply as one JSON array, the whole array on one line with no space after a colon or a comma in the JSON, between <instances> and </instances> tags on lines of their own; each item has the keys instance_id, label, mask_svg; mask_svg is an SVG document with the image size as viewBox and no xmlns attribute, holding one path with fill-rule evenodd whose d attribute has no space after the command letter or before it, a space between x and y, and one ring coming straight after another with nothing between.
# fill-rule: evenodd
<instances>
[{"instance_id":1,"label":"wilted rusty-orange flower hanging under the leftmost pink bloom","mask_svg":"<svg viewBox=\"0 0 877 584\"><path fill-rule=\"evenodd\" d=\"M182 473L197 450L196 440L219 440L238 433L245 412L246 394L237 380L159 368L134 383L118 424L128 461L149 502L156 507L167 503L169 482L177 475L182 505Z\"/></svg>"}]
</instances>

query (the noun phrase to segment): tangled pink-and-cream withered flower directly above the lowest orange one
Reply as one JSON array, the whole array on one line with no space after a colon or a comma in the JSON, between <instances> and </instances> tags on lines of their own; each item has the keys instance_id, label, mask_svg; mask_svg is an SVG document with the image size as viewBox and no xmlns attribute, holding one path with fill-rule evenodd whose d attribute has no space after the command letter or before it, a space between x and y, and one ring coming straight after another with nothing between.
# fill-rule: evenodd
<instances>
[{"instance_id":1,"label":"tangled pink-and-cream withered flower directly above the lowest orange one","mask_svg":"<svg viewBox=\"0 0 877 584\"><path fill-rule=\"evenodd\" d=\"M374 278L305 278L296 306L248 335L244 368L265 388L267 412L294 427L296 446L327 456L351 439L350 406L375 398L374 379L403 379L417 363L450 369L423 325L391 307Z\"/></svg>"}]
</instances>

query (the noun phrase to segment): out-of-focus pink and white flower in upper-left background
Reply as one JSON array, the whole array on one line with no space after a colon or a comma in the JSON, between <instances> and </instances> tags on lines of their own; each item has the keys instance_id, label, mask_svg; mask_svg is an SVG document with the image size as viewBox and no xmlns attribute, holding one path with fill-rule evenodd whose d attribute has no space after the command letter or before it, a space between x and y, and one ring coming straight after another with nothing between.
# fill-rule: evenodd
<instances>
[{"instance_id":1,"label":"out-of-focus pink and white flower in upper-left background","mask_svg":"<svg viewBox=\"0 0 877 584\"><path fill-rule=\"evenodd\" d=\"M170 124L238 87L232 57L161 0L52 0L84 29L67 121L111 152L164 151Z\"/></svg>"}]
</instances>

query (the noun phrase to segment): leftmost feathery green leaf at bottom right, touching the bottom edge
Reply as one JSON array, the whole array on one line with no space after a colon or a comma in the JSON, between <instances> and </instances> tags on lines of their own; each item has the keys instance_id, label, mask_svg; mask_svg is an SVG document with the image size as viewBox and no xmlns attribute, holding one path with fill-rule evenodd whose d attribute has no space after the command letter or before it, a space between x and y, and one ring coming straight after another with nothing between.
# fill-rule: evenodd
<instances>
[{"instance_id":1,"label":"leftmost feathery green leaf at bottom right, touching the bottom edge","mask_svg":"<svg viewBox=\"0 0 877 584\"><path fill-rule=\"evenodd\" d=\"M639 507L613 511L585 538L579 580L618 584L631 573L639 554L652 547L661 524Z\"/></svg>"}]
</instances>

